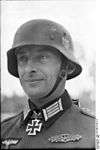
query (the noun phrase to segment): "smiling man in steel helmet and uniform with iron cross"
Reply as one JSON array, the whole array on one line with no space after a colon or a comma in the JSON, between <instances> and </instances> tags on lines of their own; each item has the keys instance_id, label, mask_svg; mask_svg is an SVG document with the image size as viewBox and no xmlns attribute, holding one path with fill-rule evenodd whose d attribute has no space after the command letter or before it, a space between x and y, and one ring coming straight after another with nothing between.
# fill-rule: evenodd
<instances>
[{"instance_id":1,"label":"smiling man in steel helmet and uniform with iron cross","mask_svg":"<svg viewBox=\"0 0 100 150\"><path fill-rule=\"evenodd\" d=\"M27 109L2 123L2 148L95 148L95 119L76 106L66 80L82 68L70 34L58 23L23 24L7 52L8 71L28 95Z\"/></svg>"}]
</instances>

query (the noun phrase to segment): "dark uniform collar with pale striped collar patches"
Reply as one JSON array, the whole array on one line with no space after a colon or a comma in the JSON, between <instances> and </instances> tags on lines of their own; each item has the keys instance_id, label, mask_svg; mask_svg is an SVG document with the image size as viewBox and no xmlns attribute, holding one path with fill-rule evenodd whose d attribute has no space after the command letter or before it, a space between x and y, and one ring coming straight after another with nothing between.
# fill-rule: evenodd
<instances>
[{"instance_id":1,"label":"dark uniform collar with pale striped collar patches","mask_svg":"<svg viewBox=\"0 0 100 150\"><path fill-rule=\"evenodd\" d=\"M40 109L37 109L36 106L29 100L29 104L24 110L24 123L27 124L28 116L32 115L32 112L35 114L42 114L42 118L45 122L45 127L49 127L57 118L59 118L67 109L72 105L72 100L65 90L65 92L53 101L45 104Z\"/></svg>"}]
</instances>

